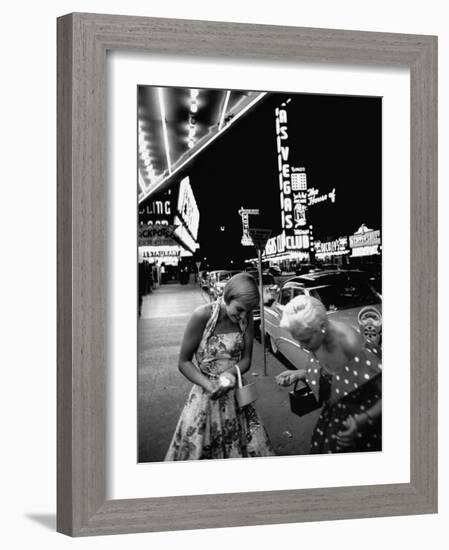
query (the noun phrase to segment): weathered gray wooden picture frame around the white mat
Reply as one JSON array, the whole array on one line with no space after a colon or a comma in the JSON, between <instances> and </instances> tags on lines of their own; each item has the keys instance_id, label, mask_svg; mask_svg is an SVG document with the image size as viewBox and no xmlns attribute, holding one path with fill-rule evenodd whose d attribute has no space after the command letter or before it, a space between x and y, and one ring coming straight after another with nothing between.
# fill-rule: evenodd
<instances>
[{"instance_id":1,"label":"weathered gray wooden picture frame around the white mat","mask_svg":"<svg viewBox=\"0 0 449 550\"><path fill-rule=\"evenodd\" d=\"M411 481L106 500L108 50L411 71ZM437 510L437 39L75 13L58 19L58 531L72 536Z\"/></svg>"}]
</instances>

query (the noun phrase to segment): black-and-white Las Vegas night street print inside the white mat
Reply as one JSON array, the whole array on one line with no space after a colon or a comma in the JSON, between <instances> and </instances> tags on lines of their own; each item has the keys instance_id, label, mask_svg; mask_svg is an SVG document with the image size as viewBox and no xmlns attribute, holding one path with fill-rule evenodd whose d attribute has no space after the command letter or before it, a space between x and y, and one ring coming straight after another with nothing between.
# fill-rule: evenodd
<instances>
[{"instance_id":1,"label":"black-and-white Las Vegas night street print inside the white mat","mask_svg":"<svg viewBox=\"0 0 449 550\"><path fill-rule=\"evenodd\" d=\"M138 86L136 134L138 462L381 451L382 99Z\"/></svg>"}]
</instances>

